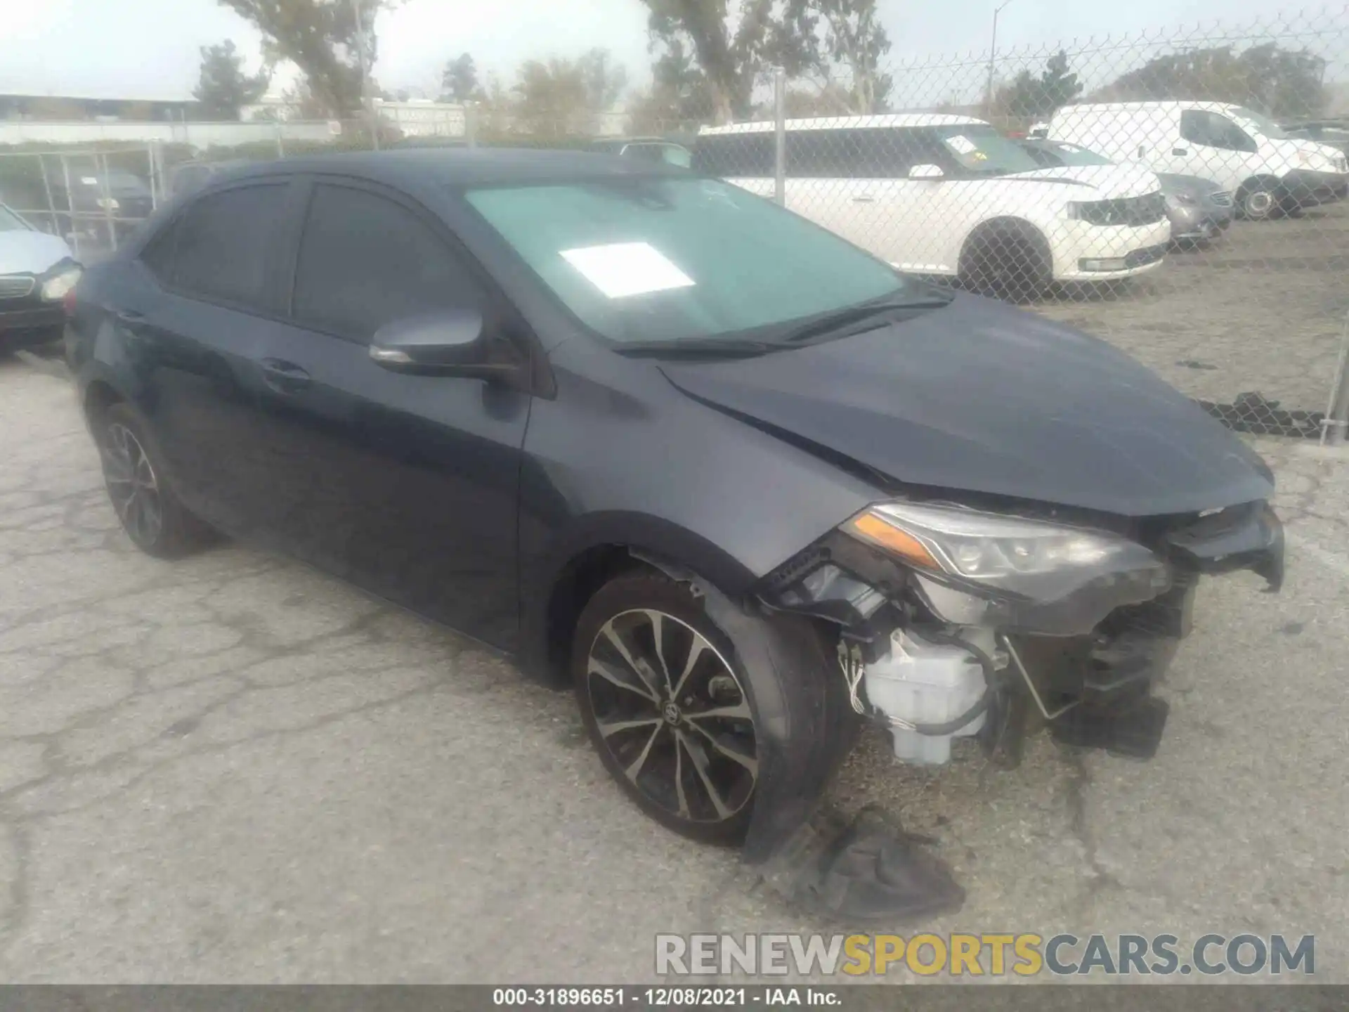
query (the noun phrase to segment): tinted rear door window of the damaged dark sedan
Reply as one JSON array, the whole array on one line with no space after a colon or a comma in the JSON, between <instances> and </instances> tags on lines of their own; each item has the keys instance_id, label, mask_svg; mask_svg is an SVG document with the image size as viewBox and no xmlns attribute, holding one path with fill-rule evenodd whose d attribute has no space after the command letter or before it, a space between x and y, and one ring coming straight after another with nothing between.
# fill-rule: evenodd
<instances>
[{"instance_id":1,"label":"tinted rear door window of the damaged dark sedan","mask_svg":"<svg viewBox=\"0 0 1349 1012\"><path fill-rule=\"evenodd\" d=\"M267 254L285 197L286 184L275 182L196 201L174 229L171 283L208 301L268 308Z\"/></svg>"}]
</instances>

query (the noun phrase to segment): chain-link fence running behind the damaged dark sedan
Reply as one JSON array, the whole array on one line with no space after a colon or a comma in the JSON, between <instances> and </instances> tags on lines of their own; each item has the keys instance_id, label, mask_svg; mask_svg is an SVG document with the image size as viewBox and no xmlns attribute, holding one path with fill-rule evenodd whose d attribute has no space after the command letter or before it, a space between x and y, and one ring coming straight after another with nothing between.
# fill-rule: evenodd
<instances>
[{"instance_id":1,"label":"chain-link fence running behind the damaged dark sedan","mask_svg":"<svg viewBox=\"0 0 1349 1012\"><path fill-rule=\"evenodd\" d=\"M1349 412L1349 8L915 58L627 115L510 105L219 127L0 155L0 200L86 247L221 166L374 147L581 147L689 165L904 271L1129 352L1229 426L1341 440ZM712 107L741 116L714 117ZM212 132L213 131L213 132ZM18 169L19 159L22 170ZM12 178L22 179L19 204Z\"/></svg>"}]
</instances>

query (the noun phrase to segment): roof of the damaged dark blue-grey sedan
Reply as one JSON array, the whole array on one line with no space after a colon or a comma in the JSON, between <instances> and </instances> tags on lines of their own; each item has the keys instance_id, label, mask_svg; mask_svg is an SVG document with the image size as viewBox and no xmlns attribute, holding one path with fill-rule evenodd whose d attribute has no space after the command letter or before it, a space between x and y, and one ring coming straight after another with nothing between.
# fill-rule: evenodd
<instances>
[{"instance_id":1,"label":"roof of the damaged dark blue-grey sedan","mask_svg":"<svg viewBox=\"0 0 1349 1012\"><path fill-rule=\"evenodd\" d=\"M592 151L538 148L397 148L391 151L347 151L299 155L256 162L220 173L223 181L332 173L353 175L393 186L565 182L603 175L665 175L677 169Z\"/></svg>"}]
</instances>

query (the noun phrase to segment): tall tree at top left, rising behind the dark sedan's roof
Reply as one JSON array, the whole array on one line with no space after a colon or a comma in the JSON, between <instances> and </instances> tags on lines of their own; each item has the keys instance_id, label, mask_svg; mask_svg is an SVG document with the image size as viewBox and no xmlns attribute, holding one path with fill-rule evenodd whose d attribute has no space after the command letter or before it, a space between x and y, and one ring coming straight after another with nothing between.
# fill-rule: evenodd
<instances>
[{"instance_id":1,"label":"tall tree at top left, rising behind the dark sedan's roof","mask_svg":"<svg viewBox=\"0 0 1349 1012\"><path fill-rule=\"evenodd\" d=\"M366 65L375 62L375 15L399 0L219 0L263 36L268 63L289 59L309 94L329 115L360 108L356 7L364 27Z\"/></svg>"}]
</instances>

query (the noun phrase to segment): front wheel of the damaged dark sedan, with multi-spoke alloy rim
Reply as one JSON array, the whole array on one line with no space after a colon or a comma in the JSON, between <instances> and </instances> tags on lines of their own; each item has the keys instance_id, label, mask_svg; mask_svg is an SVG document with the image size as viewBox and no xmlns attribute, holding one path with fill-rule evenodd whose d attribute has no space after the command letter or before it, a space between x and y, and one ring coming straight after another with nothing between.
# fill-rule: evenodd
<instances>
[{"instance_id":1,"label":"front wheel of the damaged dark sedan, with multi-spoke alloy rim","mask_svg":"<svg viewBox=\"0 0 1349 1012\"><path fill-rule=\"evenodd\" d=\"M594 673L600 665L606 673ZM591 742L637 807L691 839L741 843L758 780L757 714L734 644L688 586L645 571L607 583L577 619L571 669ZM711 710L728 715L701 716Z\"/></svg>"}]
</instances>

